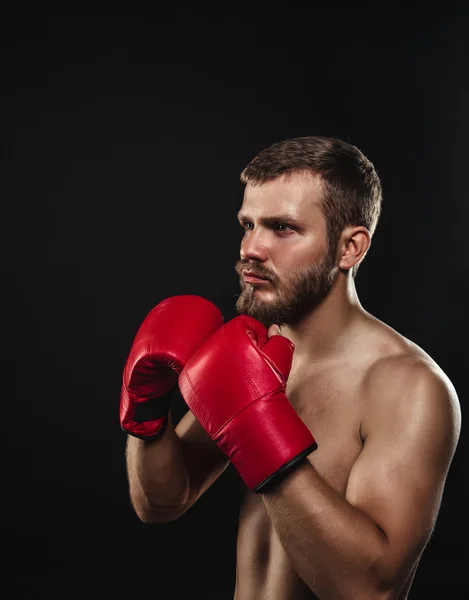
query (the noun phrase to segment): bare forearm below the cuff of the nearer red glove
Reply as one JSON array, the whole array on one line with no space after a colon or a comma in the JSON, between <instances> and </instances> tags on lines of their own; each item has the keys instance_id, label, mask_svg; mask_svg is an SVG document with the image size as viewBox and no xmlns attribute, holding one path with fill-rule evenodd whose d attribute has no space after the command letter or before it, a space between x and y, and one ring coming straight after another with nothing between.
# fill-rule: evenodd
<instances>
[{"instance_id":1,"label":"bare forearm below the cuff of the nearer red glove","mask_svg":"<svg viewBox=\"0 0 469 600\"><path fill-rule=\"evenodd\" d=\"M297 573L319 598L388 598L377 525L337 494L309 462L263 494Z\"/></svg>"}]
</instances>

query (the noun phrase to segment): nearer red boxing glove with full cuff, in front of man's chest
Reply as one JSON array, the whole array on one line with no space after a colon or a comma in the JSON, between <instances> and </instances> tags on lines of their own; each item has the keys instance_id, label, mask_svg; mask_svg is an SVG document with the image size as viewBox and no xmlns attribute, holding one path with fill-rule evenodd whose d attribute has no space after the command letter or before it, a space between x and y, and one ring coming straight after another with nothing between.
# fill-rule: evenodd
<instances>
[{"instance_id":1,"label":"nearer red boxing glove with full cuff, in front of man's chest","mask_svg":"<svg viewBox=\"0 0 469 600\"><path fill-rule=\"evenodd\" d=\"M179 389L198 421L254 492L267 491L317 444L285 393L294 345L267 340L235 317L189 359Z\"/></svg>"}]
</instances>

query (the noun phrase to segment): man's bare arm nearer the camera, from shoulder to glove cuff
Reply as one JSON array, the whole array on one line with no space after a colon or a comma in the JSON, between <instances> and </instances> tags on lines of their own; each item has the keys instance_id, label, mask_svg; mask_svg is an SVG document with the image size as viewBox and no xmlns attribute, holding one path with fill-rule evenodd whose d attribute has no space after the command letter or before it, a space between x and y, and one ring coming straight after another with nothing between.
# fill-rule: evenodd
<instances>
[{"instance_id":1,"label":"man's bare arm nearer the camera, from shoulder to glove cuff","mask_svg":"<svg viewBox=\"0 0 469 600\"><path fill-rule=\"evenodd\" d=\"M399 597L433 530L459 437L456 392L426 364L393 359L364 393L366 439L345 498L310 462L262 496L297 573L320 598Z\"/></svg>"}]
</instances>

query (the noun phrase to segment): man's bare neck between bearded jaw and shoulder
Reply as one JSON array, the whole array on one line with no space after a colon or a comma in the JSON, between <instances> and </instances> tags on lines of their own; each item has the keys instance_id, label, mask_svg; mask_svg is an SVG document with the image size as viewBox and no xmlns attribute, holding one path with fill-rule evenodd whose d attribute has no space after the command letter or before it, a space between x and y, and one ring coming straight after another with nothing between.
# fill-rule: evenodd
<instances>
[{"instance_id":1,"label":"man's bare neck between bearded jaw and shoulder","mask_svg":"<svg viewBox=\"0 0 469 600\"><path fill-rule=\"evenodd\" d=\"M340 355L364 315L351 274L339 276L319 306L299 323L280 328L282 335L295 344L294 364L301 366Z\"/></svg>"}]
</instances>

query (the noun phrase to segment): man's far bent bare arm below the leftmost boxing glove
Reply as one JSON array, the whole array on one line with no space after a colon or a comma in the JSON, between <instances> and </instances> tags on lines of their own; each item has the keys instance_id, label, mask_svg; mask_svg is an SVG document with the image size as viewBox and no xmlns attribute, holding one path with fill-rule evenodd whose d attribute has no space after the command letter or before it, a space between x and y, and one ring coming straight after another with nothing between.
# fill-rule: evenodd
<instances>
[{"instance_id":1,"label":"man's far bent bare arm below the leftmost boxing glove","mask_svg":"<svg viewBox=\"0 0 469 600\"><path fill-rule=\"evenodd\" d=\"M132 506L145 523L180 517L229 464L190 411L176 428L169 417L154 441L129 435L126 462Z\"/></svg>"}]
</instances>

